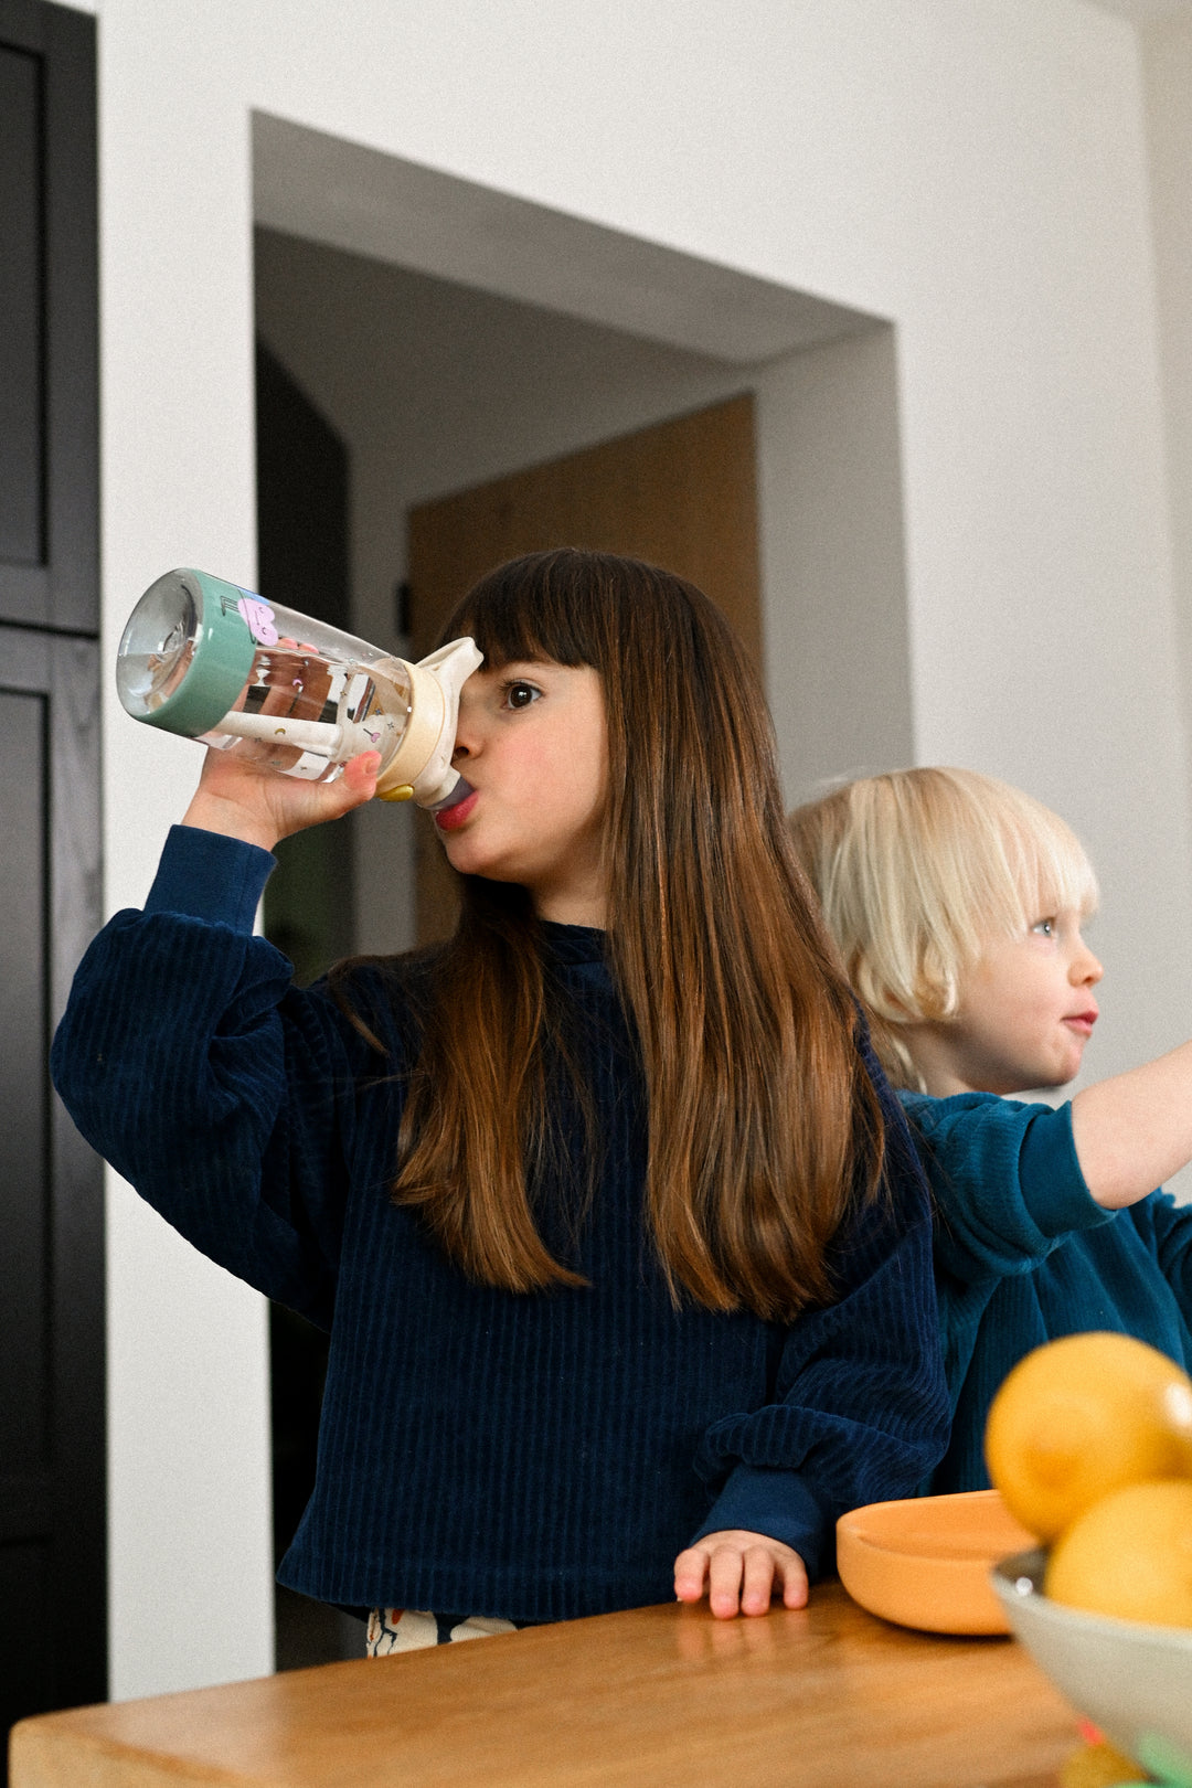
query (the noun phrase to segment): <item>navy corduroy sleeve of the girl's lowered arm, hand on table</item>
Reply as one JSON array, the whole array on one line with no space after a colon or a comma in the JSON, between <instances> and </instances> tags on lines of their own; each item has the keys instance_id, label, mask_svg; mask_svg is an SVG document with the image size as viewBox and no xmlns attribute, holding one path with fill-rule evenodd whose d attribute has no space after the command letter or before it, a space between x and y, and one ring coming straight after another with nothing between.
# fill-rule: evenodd
<instances>
[{"instance_id":1,"label":"navy corduroy sleeve of the girl's lowered arm, hand on table","mask_svg":"<svg viewBox=\"0 0 1192 1788\"><path fill-rule=\"evenodd\" d=\"M695 1539L783 1539L831 1568L847 1509L910 1497L947 1445L928 1187L906 1121L869 1055L886 1125L885 1185L835 1248L840 1296L781 1341L774 1402L715 1423L697 1468L715 1493Z\"/></svg>"}]
</instances>

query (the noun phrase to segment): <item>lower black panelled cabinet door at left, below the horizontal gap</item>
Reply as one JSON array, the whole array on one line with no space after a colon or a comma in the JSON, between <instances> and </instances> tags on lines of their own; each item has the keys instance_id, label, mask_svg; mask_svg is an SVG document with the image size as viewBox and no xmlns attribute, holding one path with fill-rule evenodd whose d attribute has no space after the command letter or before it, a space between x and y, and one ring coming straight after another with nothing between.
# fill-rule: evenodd
<instances>
[{"instance_id":1,"label":"lower black panelled cabinet door at left, below the horizontal gap","mask_svg":"<svg viewBox=\"0 0 1192 1788\"><path fill-rule=\"evenodd\" d=\"M0 1713L102 1700L104 1200L46 1051L98 924L98 651L0 626Z\"/></svg>"}]
</instances>

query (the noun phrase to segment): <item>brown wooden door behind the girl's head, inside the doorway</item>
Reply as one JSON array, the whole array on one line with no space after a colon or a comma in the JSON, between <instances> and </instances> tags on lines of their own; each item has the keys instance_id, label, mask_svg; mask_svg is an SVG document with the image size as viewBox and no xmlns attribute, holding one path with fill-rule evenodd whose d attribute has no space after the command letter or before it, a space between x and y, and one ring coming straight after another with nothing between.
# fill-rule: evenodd
<instances>
[{"instance_id":1,"label":"brown wooden door behind the girl's head, inside the doorway","mask_svg":"<svg viewBox=\"0 0 1192 1788\"><path fill-rule=\"evenodd\" d=\"M643 558L699 585L761 665L752 397L411 510L416 656L486 570L558 545ZM429 824L416 840L418 940L431 942L450 933L457 899Z\"/></svg>"}]
</instances>

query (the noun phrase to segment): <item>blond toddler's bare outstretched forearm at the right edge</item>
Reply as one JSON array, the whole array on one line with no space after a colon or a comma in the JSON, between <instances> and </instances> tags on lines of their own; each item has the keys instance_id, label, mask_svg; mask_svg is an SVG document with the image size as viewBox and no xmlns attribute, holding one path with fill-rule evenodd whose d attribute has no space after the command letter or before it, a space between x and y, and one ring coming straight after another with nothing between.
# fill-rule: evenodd
<instances>
[{"instance_id":1,"label":"blond toddler's bare outstretched forearm at the right edge","mask_svg":"<svg viewBox=\"0 0 1192 1788\"><path fill-rule=\"evenodd\" d=\"M1106 1210L1133 1205L1192 1160L1192 1042L1072 1100L1072 1139Z\"/></svg>"}]
</instances>

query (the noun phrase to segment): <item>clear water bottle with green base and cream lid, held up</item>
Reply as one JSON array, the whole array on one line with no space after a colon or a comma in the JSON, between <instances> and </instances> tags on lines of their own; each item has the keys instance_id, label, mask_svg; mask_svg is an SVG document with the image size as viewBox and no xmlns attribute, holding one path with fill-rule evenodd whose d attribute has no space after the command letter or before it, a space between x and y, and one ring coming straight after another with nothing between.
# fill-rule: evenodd
<instances>
[{"instance_id":1,"label":"clear water bottle with green base and cream lid, held up","mask_svg":"<svg viewBox=\"0 0 1192 1788\"><path fill-rule=\"evenodd\" d=\"M440 810L470 792L450 756L479 663L474 640L407 663L209 572L170 570L129 617L116 687L134 721L307 781L379 751L382 801Z\"/></svg>"}]
</instances>

